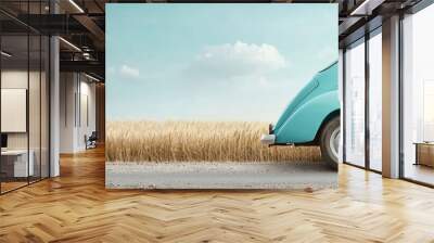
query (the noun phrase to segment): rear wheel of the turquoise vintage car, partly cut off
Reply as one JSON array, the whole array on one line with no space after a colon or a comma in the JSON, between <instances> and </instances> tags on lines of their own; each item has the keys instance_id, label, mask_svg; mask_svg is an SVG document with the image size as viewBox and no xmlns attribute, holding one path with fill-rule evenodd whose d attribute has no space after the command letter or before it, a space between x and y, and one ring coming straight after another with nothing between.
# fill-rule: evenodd
<instances>
[{"instance_id":1,"label":"rear wheel of the turquoise vintage car, partly cut off","mask_svg":"<svg viewBox=\"0 0 434 243\"><path fill-rule=\"evenodd\" d=\"M328 165L337 169L339 145L341 139L341 118L340 116L330 119L321 130L320 148L321 156Z\"/></svg>"}]
</instances>

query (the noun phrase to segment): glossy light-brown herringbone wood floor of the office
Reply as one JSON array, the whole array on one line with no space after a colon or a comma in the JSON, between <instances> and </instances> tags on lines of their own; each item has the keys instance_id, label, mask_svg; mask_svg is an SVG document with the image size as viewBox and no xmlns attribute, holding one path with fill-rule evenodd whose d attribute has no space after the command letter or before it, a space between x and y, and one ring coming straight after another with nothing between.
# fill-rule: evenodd
<instances>
[{"instance_id":1,"label":"glossy light-brown herringbone wood floor of the office","mask_svg":"<svg viewBox=\"0 0 434 243\"><path fill-rule=\"evenodd\" d=\"M0 242L434 242L434 190L349 166L340 188L107 191L103 150L0 196Z\"/></svg>"}]
</instances>

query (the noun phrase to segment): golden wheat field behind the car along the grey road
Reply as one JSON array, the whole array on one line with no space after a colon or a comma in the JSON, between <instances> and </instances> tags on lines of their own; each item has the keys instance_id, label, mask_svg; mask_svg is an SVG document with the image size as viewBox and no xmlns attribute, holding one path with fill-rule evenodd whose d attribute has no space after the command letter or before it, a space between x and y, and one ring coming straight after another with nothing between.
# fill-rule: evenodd
<instances>
[{"instance_id":1,"label":"golden wheat field behind the car along the grey road","mask_svg":"<svg viewBox=\"0 0 434 243\"><path fill-rule=\"evenodd\" d=\"M268 125L252 122L108 122L107 162L317 162L317 146L259 142Z\"/></svg>"}]
</instances>

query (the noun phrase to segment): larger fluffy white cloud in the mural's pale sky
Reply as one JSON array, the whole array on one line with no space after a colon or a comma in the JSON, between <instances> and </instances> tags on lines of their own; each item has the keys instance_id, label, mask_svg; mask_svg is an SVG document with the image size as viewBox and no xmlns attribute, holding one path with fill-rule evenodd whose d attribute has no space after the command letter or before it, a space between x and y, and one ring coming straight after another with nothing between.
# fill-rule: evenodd
<instances>
[{"instance_id":1,"label":"larger fluffy white cloud in the mural's pale sky","mask_svg":"<svg viewBox=\"0 0 434 243\"><path fill-rule=\"evenodd\" d=\"M265 75L288 65L285 57L271 44L225 43L202 50L189 72L202 77L239 77Z\"/></svg>"}]
</instances>

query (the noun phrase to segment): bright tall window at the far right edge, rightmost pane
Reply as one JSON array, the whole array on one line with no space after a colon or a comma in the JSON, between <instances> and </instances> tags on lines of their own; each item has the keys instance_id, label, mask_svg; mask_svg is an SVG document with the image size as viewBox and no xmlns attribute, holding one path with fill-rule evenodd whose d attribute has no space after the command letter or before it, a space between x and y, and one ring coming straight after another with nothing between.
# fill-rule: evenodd
<instances>
[{"instance_id":1,"label":"bright tall window at the far right edge, rightmost pane","mask_svg":"<svg viewBox=\"0 0 434 243\"><path fill-rule=\"evenodd\" d=\"M434 5L403 21L403 176L434 184Z\"/></svg>"}]
</instances>

